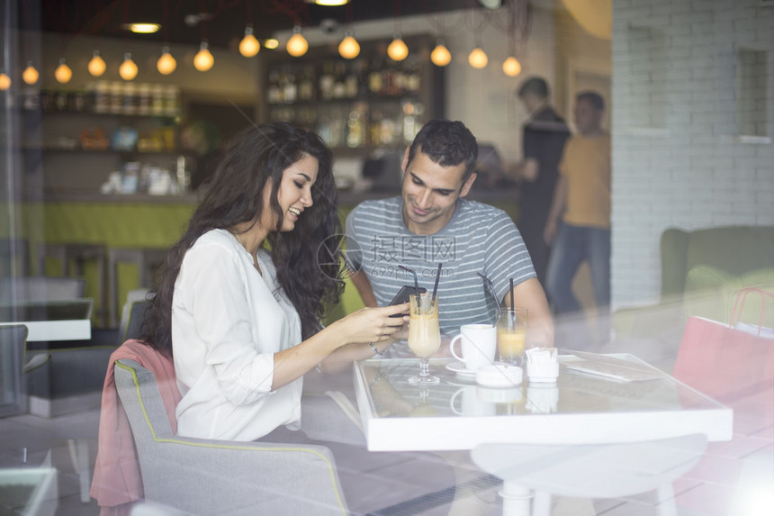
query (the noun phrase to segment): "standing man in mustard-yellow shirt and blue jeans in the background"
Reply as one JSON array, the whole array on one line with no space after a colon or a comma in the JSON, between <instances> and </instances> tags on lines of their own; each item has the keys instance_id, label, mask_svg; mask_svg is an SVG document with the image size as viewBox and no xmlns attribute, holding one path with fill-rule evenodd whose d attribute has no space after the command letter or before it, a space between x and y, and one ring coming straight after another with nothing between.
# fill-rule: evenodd
<instances>
[{"instance_id":1,"label":"standing man in mustard-yellow shirt and blue jeans in the background","mask_svg":"<svg viewBox=\"0 0 774 516\"><path fill-rule=\"evenodd\" d=\"M578 94L575 126L564 147L559 179L545 224L554 247L546 284L557 313L578 312L572 277L589 260L594 301L610 304L610 135L602 130L605 101L595 92Z\"/></svg>"}]
</instances>

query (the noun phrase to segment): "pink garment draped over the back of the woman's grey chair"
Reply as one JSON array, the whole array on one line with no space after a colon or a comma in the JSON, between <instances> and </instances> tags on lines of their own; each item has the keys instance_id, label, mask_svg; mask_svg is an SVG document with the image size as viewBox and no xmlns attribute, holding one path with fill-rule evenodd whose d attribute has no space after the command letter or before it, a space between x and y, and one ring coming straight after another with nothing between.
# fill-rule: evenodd
<instances>
[{"instance_id":1,"label":"pink garment draped over the back of the woman's grey chair","mask_svg":"<svg viewBox=\"0 0 774 516\"><path fill-rule=\"evenodd\" d=\"M175 366L172 360L140 340L127 340L112 353L104 378L99 449L89 492L102 508L103 516L129 514L133 502L143 497L137 449L113 377L115 361L123 359L134 360L156 376L169 425L174 433L177 432L175 408L181 395L175 383Z\"/></svg>"}]
</instances>

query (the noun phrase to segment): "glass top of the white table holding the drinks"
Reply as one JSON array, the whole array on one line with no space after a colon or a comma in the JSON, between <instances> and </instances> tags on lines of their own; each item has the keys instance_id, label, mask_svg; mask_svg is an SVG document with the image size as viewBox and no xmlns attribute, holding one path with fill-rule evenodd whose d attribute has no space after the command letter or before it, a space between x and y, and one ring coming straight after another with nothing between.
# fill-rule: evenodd
<instances>
[{"instance_id":1,"label":"glass top of the white table holding the drinks","mask_svg":"<svg viewBox=\"0 0 774 516\"><path fill-rule=\"evenodd\" d=\"M616 357L650 367L631 355ZM626 382L563 366L555 384L530 383L524 375L524 381L518 385L493 388L476 385L474 377L455 374L449 369L455 369L455 365L457 363L452 359L431 359L430 372L441 382L424 389L408 382L418 370L416 359L364 360L357 367L376 418L678 412L723 408L663 373L656 375L656 379ZM660 373L654 367L653 371Z\"/></svg>"}]
</instances>

